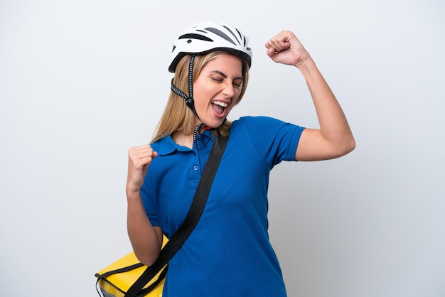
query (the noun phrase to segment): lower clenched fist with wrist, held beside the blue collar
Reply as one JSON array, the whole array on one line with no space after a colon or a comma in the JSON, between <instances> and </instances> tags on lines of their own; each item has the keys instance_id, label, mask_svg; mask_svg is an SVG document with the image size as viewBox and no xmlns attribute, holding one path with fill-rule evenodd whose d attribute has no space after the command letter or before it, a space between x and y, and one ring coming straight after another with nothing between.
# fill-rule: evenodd
<instances>
[{"instance_id":1,"label":"lower clenched fist with wrist, held beside the blue collar","mask_svg":"<svg viewBox=\"0 0 445 297\"><path fill-rule=\"evenodd\" d=\"M127 193L138 192L144 184L151 161L158 156L149 144L130 148L128 153Z\"/></svg>"}]
</instances>

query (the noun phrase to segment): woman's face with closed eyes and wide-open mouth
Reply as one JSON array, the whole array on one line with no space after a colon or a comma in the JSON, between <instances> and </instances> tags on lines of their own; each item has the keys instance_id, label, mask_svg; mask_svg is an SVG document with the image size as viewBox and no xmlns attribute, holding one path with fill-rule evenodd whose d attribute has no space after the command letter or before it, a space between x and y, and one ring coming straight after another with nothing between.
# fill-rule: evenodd
<instances>
[{"instance_id":1,"label":"woman's face with closed eyes and wide-open mouth","mask_svg":"<svg viewBox=\"0 0 445 297\"><path fill-rule=\"evenodd\" d=\"M241 85L240 58L222 53L210 60L193 83L193 99L200 120L212 128L221 126L237 102ZM201 121L196 119L195 125Z\"/></svg>"}]
</instances>

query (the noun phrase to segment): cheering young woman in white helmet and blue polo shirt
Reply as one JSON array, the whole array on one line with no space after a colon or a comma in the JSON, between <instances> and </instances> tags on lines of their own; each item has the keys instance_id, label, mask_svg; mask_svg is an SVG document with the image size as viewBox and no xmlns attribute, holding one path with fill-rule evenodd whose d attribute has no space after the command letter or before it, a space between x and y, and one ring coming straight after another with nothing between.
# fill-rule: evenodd
<instances>
[{"instance_id":1,"label":"cheering young woman in white helmet and blue polo shirt","mask_svg":"<svg viewBox=\"0 0 445 297\"><path fill-rule=\"evenodd\" d=\"M163 296L286 296L267 233L269 172L281 161L338 158L355 148L336 97L294 33L282 31L266 48L304 75L320 129L271 117L227 121L252 61L236 28L196 23L173 43L175 75L154 139L129 150L128 232L144 264L156 261L163 234L186 217L216 136L230 138L203 215L169 263Z\"/></svg>"}]
</instances>

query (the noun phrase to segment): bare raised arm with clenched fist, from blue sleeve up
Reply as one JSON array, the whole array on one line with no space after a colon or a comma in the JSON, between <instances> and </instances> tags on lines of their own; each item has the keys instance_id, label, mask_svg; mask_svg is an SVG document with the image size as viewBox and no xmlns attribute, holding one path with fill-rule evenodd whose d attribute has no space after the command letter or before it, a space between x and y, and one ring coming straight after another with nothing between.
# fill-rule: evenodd
<instances>
[{"instance_id":1,"label":"bare raised arm with clenched fist, from blue sleeve up","mask_svg":"<svg viewBox=\"0 0 445 297\"><path fill-rule=\"evenodd\" d=\"M282 31L266 43L274 62L294 65L304 75L318 117L319 129L304 129L295 159L319 161L353 151L355 141L345 114L311 55L291 31Z\"/></svg>"}]
</instances>

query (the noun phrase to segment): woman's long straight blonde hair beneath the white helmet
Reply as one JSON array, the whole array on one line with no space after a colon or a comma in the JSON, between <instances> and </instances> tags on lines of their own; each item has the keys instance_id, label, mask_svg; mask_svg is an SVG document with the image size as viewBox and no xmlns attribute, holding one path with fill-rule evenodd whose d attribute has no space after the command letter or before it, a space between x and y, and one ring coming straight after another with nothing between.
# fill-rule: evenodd
<instances>
[{"instance_id":1,"label":"woman's long straight blonde hair beneath the white helmet","mask_svg":"<svg viewBox=\"0 0 445 297\"><path fill-rule=\"evenodd\" d=\"M196 77L198 77L204 65L221 53L226 52L214 51L206 55L195 56L195 61L193 64L193 82L195 82ZM181 60L179 60L178 65L176 66L175 76L173 78L173 85L175 85L186 95L189 95L188 91L186 90L188 90L188 65L190 62L190 58L191 55L185 55L183 58L181 58ZM249 80L249 66L247 65L247 62L245 60L241 58L240 60L242 61L243 81L240 95L238 96L235 105L240 103L242 97L245 95L247 82ZM161 116L161 119L159 120L158 125L156 126L156 130L154 132L151 143L162 139L163 137L171 135L174 131L183 131L184 134L192 134L193 130L195 129L194 122L195 114L193 114L193 111L189 107L187 107L183 97L177 95L173 91L170 91L166 107L163 110L163 114ZM225 123L220 127L212 129L212 132L217 136L228 136L230 133L231 124L232 123L230 121L225 121Z\"/></svg>"}]
</instances>

